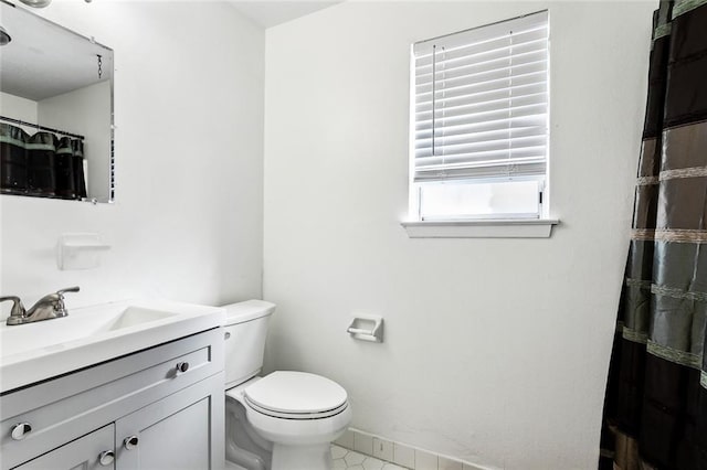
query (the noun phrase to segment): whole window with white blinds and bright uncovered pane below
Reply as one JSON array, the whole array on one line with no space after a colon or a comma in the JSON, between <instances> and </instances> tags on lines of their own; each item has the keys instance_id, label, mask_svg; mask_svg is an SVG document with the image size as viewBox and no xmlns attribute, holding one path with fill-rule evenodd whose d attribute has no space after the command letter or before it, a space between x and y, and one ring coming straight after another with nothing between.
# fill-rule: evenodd
<instances>
[{"instance_id":1,"label":"whole window with white blinds and bright uncovered pane below","mask_svg":"<svg viewBox=\"0 0 707 470\"><path fill-rule=\"evenodd\" d=\"M538 220L548 153L548 13L412 49L411 217Z\"/></svg>"}]
</instances>

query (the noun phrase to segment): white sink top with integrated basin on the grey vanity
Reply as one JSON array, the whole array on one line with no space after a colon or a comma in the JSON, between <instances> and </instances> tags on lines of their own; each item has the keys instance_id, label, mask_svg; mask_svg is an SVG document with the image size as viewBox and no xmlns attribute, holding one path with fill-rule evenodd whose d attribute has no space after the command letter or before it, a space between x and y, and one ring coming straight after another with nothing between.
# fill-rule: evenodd
<instances>
[{"instance_id":1,"label":"white sink top with integrated basin on the grey vanity","mask_svg":"<svg viewBox=\"0 0 707 470\"><path fill-rule=\"evenodd\" d=\"M0 392L218 328L224 310L167 301L113 302L68 317L0 325Z\"/></svg>"}]
</instances>

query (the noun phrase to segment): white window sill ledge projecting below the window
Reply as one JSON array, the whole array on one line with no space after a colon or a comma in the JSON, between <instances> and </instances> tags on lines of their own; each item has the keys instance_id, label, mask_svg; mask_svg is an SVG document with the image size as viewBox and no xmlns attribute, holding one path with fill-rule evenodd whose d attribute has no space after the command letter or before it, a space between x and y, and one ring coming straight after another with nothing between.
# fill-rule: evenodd
<instances>
[{"instance_id":1,"label":"white window sill ledge projecting below the window","mask_svg":"<svg viewBox=\"0 0 707 470\"><path fill-rule=\"evenodd\" d=\"M410 238L549 238L556 218L401 222Z\"/></svg>"}]
</instances>

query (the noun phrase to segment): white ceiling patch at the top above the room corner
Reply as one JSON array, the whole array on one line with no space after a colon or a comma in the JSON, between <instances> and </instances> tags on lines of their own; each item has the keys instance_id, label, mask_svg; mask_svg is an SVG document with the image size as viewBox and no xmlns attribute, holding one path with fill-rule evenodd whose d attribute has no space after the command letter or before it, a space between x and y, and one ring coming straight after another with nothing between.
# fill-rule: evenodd
<instances>
[{"instance_id":1,"label":"white ceiling patch at the top above the room corner","mask_svg":"<svg viewBox=\"0 0 707 470\"><path fill-rule=\"evenodd\" d=\"M230 3L261 26L271 28L313 13L317 10L341 3L342 1L344 0L230 0Z\"/></svg>"}]
</instances>

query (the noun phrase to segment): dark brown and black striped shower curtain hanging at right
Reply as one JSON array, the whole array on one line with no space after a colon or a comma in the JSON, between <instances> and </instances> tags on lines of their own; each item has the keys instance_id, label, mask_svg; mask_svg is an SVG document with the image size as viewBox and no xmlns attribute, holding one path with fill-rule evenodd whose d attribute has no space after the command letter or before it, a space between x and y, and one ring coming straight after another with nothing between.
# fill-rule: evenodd
<instances>
[{"instance_id":1,"label":"dark brown and black striped shower curtain hanging at right","mask_svg":"<svg viewBox=\"0 0 707 470\"><path fill-rule=\"evenodd\" d=\"M707 470L707 0L654 14L600 469Z\"/></svg>"}]
</instances>

